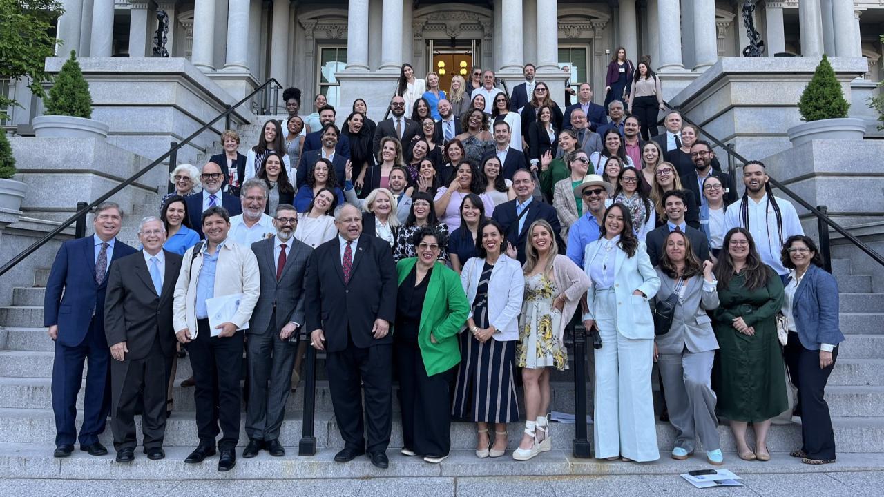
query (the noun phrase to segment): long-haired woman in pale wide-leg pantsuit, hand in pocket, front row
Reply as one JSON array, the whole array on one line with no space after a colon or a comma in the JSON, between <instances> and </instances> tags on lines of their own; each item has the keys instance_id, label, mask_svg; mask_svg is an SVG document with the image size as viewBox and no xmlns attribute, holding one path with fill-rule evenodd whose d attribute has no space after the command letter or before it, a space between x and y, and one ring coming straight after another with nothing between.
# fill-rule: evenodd
<instances>
[{"instance_id":1,"label":"long-haired woman in pale wide-leg pantsuit, hand in pocket, front row","mask_svg":"<svg viewBox=\"0 0 884 497\"><path fill-rule=\"evenodd\" d=\"M656 461L654 324L648 301L660 280L622 203L605 210L601 237L586 246L583 261L592 280L583 326L597 326L602 340L602 348L595 350L596 458Z\"/></svg>"}]
</instances>

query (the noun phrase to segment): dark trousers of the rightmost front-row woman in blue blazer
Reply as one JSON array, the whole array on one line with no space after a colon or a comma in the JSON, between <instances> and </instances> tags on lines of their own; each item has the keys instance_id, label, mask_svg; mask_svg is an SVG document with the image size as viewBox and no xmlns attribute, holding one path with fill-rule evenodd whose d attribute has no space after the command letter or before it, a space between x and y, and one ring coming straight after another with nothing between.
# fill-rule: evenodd
<instances>
[{"instance_id":1,"label":"dark trousers of the rightmost front-row woman in blue blazer","mask_svg":"<svg viewBox=\"0 0 884 497\"><path fill-rule=\"evenodd\" d=\"M838 347L832 350L832 364L819 369L819 350L804 348L798 333L789 332L785 360L792 385L798 389L796 416L801 417L801 449L811 459L833 460L834 430L824 394L838 360Z\"/></svg>"}]
</instances>

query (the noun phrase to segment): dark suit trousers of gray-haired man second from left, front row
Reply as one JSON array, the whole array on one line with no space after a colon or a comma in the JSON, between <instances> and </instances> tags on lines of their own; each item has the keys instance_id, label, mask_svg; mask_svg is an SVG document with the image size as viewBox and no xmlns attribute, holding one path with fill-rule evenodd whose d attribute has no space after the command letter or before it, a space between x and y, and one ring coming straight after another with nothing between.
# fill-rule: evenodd
<instances>
[{"instance_id":1,"label":"dark suit trousers of gray-haired man second from left, front row","mask_svg":"<svg viewBox=\"0 0 884 497\"><path fill-rule=\"evenodd\" d=\"M166 377L171 356L164 356L159 336L154 337L147 356L141 359L110 360L110 429L117 452L135 448L135 410L141 407L144 448L163 447L165 434Z\"/></svg>"}]
</instances>

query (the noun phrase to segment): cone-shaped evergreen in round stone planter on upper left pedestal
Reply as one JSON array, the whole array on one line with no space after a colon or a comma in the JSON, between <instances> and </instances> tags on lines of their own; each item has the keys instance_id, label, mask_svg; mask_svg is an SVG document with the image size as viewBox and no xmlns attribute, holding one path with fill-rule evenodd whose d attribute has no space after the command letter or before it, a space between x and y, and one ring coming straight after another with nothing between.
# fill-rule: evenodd
<instances>
[{"instance_id":1,"label":"cone-shaped evergreen in round stone planter on upper left pedestal","mask_svg":"<svg viewBox=\"0 0 884 497\"><path fill-rule=\"evenodd\" d=\"M44 103L44 115L34 118L34 134L38 137L107 138L110 126L91 119L89 84L73 50Z\"/></svg>"}]
</instances>

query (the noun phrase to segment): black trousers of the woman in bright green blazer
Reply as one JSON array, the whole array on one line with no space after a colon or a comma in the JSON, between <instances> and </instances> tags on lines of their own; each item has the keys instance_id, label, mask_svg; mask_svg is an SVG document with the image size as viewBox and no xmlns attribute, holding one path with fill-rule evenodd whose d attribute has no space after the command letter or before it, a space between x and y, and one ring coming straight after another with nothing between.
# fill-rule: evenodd
<instances>
[{"instance_id":1,"label":"black trousers of the woman in bright green blazer","mask_svg":"<svg viewBox=\"0 0 884 497\"><path fill-rule=\"evenodd\" d=\"M457 366L427 376L420 348L393 347L402 410L403 447L419 455L447 455L451 450L451 384Z\"/></svg>"}]
</instances>

